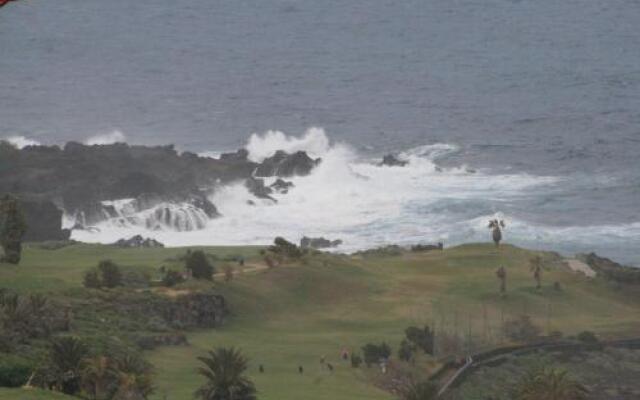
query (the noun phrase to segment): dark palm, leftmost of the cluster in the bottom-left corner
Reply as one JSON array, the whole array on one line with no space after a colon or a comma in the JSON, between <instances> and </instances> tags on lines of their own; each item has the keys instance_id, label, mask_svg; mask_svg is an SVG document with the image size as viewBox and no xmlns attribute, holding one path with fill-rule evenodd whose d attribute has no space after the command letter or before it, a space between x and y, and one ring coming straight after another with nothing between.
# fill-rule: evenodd
<instances>
[{"instance_id":1,"label":"dark palm, leftmost of the cluster in the bottom-left corner","mask_svg":"<svg viewBox=\"0 0 640 400\"><path fill-rule=\"evenodd\" d=\"M66 336L54 340L49 352L49 363L54 386L65 394L80 389L82 363L88 355L87 346L80 339Z\"/></svg>"}]
</instances>

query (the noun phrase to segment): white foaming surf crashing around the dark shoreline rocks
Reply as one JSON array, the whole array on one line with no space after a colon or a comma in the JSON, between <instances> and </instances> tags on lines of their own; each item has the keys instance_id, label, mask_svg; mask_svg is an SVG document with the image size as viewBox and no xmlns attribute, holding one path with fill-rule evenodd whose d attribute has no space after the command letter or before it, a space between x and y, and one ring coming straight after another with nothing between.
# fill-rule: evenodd
<instances>
[{"instance_id":1,"label":"white foaming surf crashing around the dark shoreline rocks","mask_svg":"<svg viewBox=\"0 0 640 400\"><path fill-rule=\"evenodd\" d=\"M295 186L286 194L273 194L275 202L254 197L237 182L215 188L210 200L222 214L219 218L210 220L194 210L181 214L174 206L161 208L172 210L167 211L172 217L158 210L121 211L122 215L100 224L100 232L74 231L73 237L113 242L141 234L169 246L187 246L266 244L276 235L292 241L324 236L342 239L341 251L355 251L391 243L486 241L487 221L500 217L507 221L505 238L529 247L557 249L562 243L563 250L581 251L594 243L606 248L640 241L640 223L554 227L527 221L520 215L526 215L521 211L527 210L527 201L557 193L567 184L566 178L439 165L459 151L455 144L433 143L401 152L398 158L407 162L403 167L381 166L379 159L332 143L319 128L300 137L275 131L254 134L246 149L255 161L283 149L304 150L322 162L309 176L288 178Z\"/></svg>"}]
</instances>

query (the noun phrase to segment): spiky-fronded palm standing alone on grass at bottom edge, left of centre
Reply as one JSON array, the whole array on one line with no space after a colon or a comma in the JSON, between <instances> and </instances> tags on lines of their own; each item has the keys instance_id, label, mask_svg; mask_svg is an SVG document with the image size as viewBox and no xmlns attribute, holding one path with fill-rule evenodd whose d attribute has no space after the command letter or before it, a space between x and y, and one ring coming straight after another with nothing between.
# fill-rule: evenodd
<instances>
[{"instance_id":1,"label":"spiky-fronded palm standing alone on grass at bottom edge, left of centre","mask_svg":"<svg viewBox=\"0 0 640 400\"><path fill-rule=\"evenodd\" d=\"M256 388L244 375L248 360L235 348L219 347L206 357L198 357L205 366L198 373L206 378L195 392L201 400L255 400Z\"/></svg>"}]
</instances>

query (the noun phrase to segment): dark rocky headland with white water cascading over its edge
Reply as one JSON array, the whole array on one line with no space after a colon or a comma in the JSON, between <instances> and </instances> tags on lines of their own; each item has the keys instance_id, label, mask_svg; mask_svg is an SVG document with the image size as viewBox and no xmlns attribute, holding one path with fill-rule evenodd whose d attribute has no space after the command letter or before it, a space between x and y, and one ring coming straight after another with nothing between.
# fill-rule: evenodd
<instances>
[{"instance_id":1,"label":"dark rocky headland with white water cascading over its edge","mask_svg":"<svg viewBox=\"0 0 640 400\"><path fill-rule=\"evenodd\" d=\"M117 226L178 231L203 229L219 216L208 195L216 185L246 181L257 197L286 193L292 184L272 187L255 177L307 175L320 163L305 152L276 152L262 163L240 149L219 159L177 152L173 146L125 143L17 149L0 141L0 194L24 199L27 240L64 240L61 215L75 218L74 229L94 229L108 220Z\"/></svg>"}]
</instances>

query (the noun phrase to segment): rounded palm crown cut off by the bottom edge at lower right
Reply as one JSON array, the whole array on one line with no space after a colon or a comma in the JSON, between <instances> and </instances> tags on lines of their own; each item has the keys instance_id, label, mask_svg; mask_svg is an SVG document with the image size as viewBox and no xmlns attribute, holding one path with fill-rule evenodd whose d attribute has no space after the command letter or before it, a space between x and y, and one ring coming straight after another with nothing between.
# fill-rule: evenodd
<instances>
[{"instance_id":1,"label":"rounded palm crown cut off by the bottom edge at lower right","mask_svg":"<svg viewBox=\"0 0 640 400\"><path fill-rule=\"evenodd\" d=\"M584 400L588 390L566 370L541 368L529 371L516 388L517 400Z\"/></svg>"}]
</instances>

